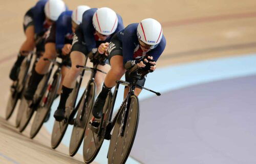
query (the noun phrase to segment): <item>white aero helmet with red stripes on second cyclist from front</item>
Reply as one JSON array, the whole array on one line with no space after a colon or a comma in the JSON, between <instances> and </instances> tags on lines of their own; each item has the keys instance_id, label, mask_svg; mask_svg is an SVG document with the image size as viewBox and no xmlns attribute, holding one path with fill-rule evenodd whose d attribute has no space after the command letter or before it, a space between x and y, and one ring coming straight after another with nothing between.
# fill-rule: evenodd
<instances>
[{"instance_id":1,"label":"white aero helmet with red stripes on second cyclist from front","mask_svg":"<svg viewBox=\"0 0 256 164\"><path fill-rule=\"evenodd\" d=\"M118 18L116 12L110 8L99 8L93 14L93 27L102 35L111 35L116 31Z\"/></svg>"}]
</instances>

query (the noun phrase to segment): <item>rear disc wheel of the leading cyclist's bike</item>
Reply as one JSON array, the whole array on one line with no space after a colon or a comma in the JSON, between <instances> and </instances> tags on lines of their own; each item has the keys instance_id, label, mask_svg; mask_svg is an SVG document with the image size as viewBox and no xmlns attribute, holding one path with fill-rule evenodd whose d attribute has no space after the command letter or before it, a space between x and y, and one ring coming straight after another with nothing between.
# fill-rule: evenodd
<instances>
[{"instance_id":1,"label":"rear disc wheel of the leading cyclist's bike","mask_svg":"<svg viewBox=\"0 0 256 164\"><path fill-rule=\"evenodd\" d=\"M110 92L108 97L106 98L106 103L103 107L103 113L108 114L108 112L106 112L109 109L109 106L111 104L111 98L112 98L112 93ZM83 139L83 160L86 163L91 163L94 158L97 156L101 145L104 141L104 136L105 136L105 124L106 118L108 118L107 115L104 116L104 120L102 123L102 131L100 134L100 137L98 137L98 134L93 132L90 128L89 128L89 122L90 119L92 118L93 114L92 114L92 110L90 112L89 115L89 119L87 120L87 125L86 125L86 131L84 132L84 139Z\"/></svg>"}]
</instances>

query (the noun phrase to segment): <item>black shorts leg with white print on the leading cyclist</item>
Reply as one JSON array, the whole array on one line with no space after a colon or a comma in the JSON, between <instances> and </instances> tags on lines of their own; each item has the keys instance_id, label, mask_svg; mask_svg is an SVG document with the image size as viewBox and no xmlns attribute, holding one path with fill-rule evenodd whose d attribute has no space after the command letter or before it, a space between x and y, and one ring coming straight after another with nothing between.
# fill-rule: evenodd
<instances>
[{"instance_id":1,"label":"black shorts leg with white print on the leading cyclist","mask_svg":"<svg viewBox=\"0 0 256 164\"><path fill-rule=\"evenodd\" d=\"M108 59L109 59L109 61L115 55L123 56L122 46L123 46L122 42L118 39L117 34L115 34L111 38L109 48L108 48L108 54L109 54Z\"/></svg>"}]
</instances>

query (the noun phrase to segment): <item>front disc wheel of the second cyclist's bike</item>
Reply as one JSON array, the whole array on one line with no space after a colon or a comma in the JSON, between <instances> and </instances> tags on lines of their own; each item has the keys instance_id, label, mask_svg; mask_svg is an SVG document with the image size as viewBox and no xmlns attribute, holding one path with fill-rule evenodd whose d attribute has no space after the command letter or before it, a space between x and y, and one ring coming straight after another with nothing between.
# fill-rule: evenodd
<instances>
[{"instance_id":1,"label":"front disc wheel of the second cyclist's bike","mask_svg":"<svg viewBox=\"0 0 256 164\"><path fill-rule=\"evenodd\" d=\"M87 89L84 91L81 97L82 101L78 106L78 112L76 115L75 123L72 130L72 135L70 138L69 145L69 155L74 156L81 143L84 136L84 130L86 129L86 123L89 118L89 114L92 110L94 97L95 97L95 82L91 82Z\"/></svg>"}]
</instances>

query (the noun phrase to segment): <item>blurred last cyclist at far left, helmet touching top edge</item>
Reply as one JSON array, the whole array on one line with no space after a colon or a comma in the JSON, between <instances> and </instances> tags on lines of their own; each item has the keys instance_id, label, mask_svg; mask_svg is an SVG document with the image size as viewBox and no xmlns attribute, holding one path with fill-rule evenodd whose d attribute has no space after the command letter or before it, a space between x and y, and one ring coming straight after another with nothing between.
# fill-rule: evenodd
<instances>
[{"instance_id":1,"label":"blurred last cyclist at far left, helmet touching top edge","mask_svg":"<svg viewBox=\"0 0 256 164\"><path fill-rule=\"evenodd\" d=\"M42 37L53 21L57 20L58 16L65 10L65 3L61 0L40 0L27 11L23 22L26 40L20 47L17 60L11 69L9 75L11 80L17 80L22 61L29 52L34 50L35 46L37 52L44 52Z\"/></svg>"}]
</instances>

